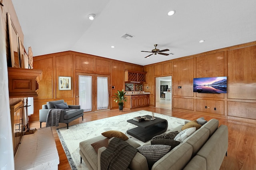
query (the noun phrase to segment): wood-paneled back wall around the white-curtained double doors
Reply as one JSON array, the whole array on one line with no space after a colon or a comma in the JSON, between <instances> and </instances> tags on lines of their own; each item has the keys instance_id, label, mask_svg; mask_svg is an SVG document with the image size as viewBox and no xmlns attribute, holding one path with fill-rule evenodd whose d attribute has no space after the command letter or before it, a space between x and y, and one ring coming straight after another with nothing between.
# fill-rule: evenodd
<instances>
[{"instance_id":1,"label":"wood-paneled back wall around the white-curtained double doors","mask_svg":"<svg viewBox=\"0 0 256 170\"><path fill-rule=\"evenodd\" d=\"M108 76L109 88L115 86L115 89L110 88L110 109L117 109L118 104L113 101L112 96L117 93L117 90L124 89L124 69L143 70L141 65L74 51L34 57L34 68L42 70L43 78L39 82L38 97L34 98L34 115L31 116L30 121L39 120L39 109L47 101L64 99L68 104L75 105L78 100L76 97L78 96L76 91L78 75ZM58 89L59 76L71 77L71 90ZM96 94L95 88L93 94ZM93 103L96 105L96 102Z\"/></svg>"}]
</instances>

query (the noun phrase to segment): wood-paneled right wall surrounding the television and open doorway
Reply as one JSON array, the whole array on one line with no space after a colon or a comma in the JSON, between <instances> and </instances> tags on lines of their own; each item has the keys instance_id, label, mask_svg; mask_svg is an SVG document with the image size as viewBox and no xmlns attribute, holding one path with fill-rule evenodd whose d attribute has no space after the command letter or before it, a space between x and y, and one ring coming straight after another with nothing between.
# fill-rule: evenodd
<instances>
[{"instance_id":1,"label":"wood-paneled right wall surrounding the television and open doorway","mask_svg":"<svg viewBox=\"0 0 256 170\"><path fill-rule=\"evenodd\" d=\"M172 76L173 110L256 123L256 42L145 65L144 71L152 99L155 78ZM222 76L227 93L193 93L193 78Z\"/></svg>"}]
</instances>

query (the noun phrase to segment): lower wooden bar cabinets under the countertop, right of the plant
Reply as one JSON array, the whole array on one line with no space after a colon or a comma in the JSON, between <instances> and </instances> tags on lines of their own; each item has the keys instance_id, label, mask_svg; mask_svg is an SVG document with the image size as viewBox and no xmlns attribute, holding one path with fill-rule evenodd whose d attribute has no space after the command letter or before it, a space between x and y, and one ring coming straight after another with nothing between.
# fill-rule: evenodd
<instances>
[{"instance_id":1,"label":"lower wooden bar cabinets under the countertop, right of the plant","mask_svg":"<svg viewBox=\"0 0 256 170\"><path fill-rule=\"evenodd\" d=\"M143 107L149 105L149 95L127 95L127 102L124 104L126 109Z\"/></svg>"}]
</instances>

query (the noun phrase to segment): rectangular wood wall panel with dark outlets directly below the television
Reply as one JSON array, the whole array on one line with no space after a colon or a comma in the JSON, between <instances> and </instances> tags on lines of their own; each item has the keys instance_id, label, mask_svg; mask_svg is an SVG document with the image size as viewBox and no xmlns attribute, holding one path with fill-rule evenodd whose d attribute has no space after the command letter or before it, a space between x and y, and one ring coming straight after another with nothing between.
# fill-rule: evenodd
<instances>
[{"instance_id":1,"label":"rectangular wood wall panel with dark outlets directly below the television","mask_svg":"<svg viewBox=\"0 0 256 170\"><path fill-rule=\"evenodd\" d=\"M197 99L196 111L224 115L224 101Z\"/></svg>"}]
</instances>

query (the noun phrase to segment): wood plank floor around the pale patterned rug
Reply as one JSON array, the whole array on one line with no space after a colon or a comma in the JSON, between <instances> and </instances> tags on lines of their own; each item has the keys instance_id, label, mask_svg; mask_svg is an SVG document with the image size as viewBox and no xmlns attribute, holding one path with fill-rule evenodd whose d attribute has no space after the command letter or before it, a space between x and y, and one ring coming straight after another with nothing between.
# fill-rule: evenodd
<instances>
[{"instance_id":1,"label":"wood plank floor around the pale patterned rug","mask_svg":"<svg viewBox=\"0 0 256 170\"><path fill-rule=\"evenodd\" d=\"M131 113L134 111L146 110L154 111L155 113L160 113L163 115L169 115L173 117L178 117L181 119L195 120L199 117L204 117L206 120L218 119L220 125L228 126L228 156L225 156L221 170L256 170L256 125L251 123L244 123L239 121L231 121L222 118L174 111L169 109L162 109L156 107L141 107L137 109L124 109L123 112L119 112L118 109L108 110L108 111L98 111L94 113L85 113L84 121L82 119L76 119L72 121L69 125L75 125L79 123L84 123L88 121L94 121L106 117L112 117L116 115L122 115L126 113ZM30 123L30 128L40 128L39 121ZM42 123L42 127L45 127L45 123ZM66 124L60 123L60 127L66 127ZM60 164L58 166L59 170L71 170L66 154L62 148L56 128L52 127L54 134L56 146L58 149L58 154L60 157Z\"/></svg>"}]
</instances>

